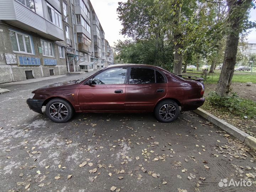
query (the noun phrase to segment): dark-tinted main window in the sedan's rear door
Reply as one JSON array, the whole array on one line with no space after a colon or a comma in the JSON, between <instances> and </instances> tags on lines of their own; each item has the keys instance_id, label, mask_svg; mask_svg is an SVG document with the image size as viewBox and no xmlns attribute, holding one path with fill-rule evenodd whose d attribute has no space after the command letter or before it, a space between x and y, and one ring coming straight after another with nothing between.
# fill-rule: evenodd
<instances>
[{"instance_id":1,"label":"dark-tinted main window in the sedan's rear door","mask_svg":"<svg viewBox=\"0 0 256 192\"><path fill-rule=\"evenodd\" d=\"M155 70L149 68L131 68L129 84L155 83Z\"/></svg>"}]
</instances>

